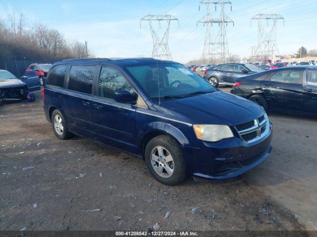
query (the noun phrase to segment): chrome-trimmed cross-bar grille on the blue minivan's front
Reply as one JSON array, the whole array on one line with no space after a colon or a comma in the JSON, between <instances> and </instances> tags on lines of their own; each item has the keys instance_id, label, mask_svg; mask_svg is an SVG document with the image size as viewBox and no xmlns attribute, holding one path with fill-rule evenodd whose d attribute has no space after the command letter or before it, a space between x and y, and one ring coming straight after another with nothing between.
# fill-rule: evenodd
<instances>
[{"instance_id":1,"label":"chrome-trimmed cross-bar grille on the blue minivan's front","mask_svg":"<svg viewBox=\"0 0 317 237\"><path fill-rule=\"evenodd\" d=\"M264 136L266 132L267 116L261 116L258 119L241 123L235 126L242 140L254 142Z\"/></svg>"}]
</instances>

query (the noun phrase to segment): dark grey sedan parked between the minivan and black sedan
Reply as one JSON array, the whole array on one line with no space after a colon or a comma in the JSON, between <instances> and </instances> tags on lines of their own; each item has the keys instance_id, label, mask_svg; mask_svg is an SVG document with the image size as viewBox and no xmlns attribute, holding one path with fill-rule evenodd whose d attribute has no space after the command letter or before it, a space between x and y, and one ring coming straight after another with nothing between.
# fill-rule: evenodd
<instances>
[{"instance_id":1,"label":"dark grey sedan parked between the minivan and black sedan","mask_svg":"<svg viewBox=\"0 0 317 237\"><path fill-rule=\"evenodd\" d=\"M218 85L234 85L234 79L262 71L262 69L252 64L226 63L207 69L204 79L208 80L214 87Z\"/></svg>"}]
</instances>

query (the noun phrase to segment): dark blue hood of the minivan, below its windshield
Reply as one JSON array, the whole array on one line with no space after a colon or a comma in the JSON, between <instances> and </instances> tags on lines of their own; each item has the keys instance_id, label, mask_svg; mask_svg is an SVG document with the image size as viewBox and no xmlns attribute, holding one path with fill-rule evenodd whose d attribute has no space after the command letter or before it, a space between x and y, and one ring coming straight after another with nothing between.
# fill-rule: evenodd
<instances>
[{"instance_id":1,"label":"dark blue hood of the minivan, below its windshield","mask_svg":"<svg viewBox=\"0 0 317 237\"><path fill-rule=\"evenodd\" d=\"M222 91L166 100L161 106L202 124L237 125L264 115L263 108L256 103Z\"/></svg>"}]
</instances>

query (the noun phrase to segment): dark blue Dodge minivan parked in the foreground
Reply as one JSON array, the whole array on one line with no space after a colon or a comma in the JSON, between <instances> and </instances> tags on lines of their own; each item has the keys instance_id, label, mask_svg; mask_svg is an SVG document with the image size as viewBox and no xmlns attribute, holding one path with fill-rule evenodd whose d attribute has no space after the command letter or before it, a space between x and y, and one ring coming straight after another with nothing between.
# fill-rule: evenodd
<instances>
[{"instance_id":1,"label":"dark blue Dodge minivan parked in the foreground","mask_svg":"<svg viewBox=\"0 0 317 237\"><path fill-rule=\"evenodd\" d=\"M55 135L75 134L144 158L161 183L226 179L271 152L272 124L252 101L183 65L152 58L55 63L43 88Z\"/></svg>"}]
</instances>

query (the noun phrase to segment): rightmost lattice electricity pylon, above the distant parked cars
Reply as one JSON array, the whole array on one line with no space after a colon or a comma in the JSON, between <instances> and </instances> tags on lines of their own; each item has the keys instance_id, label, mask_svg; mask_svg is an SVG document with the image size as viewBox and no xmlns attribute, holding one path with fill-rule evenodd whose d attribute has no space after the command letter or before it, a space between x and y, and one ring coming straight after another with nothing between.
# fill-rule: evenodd
<instances>
[{"instance_id":1,"label":"rightmost lattice electricity pylon, above the distant parked cars","mask_svg":"<svg viewBox=\"0 0 317 237\"><path fill-rule=\"evenodd\" d=\"M255 50L255 59L258 61L264 61L265 59L272 59L275 52L278 53L278 47L276 43L276 31L278 20L283 20L280 14L258 14L251 18L252 20L258 20L259 27L259 41ZM262 24L266 20L266 27ZM269 22L272 21L273 25L269 27ZM251 25L252 26L252 25Z\"/></svg>"}]
</instances>

